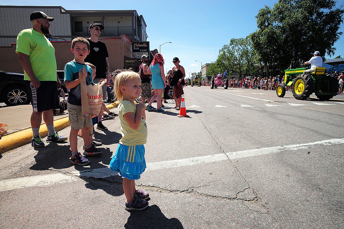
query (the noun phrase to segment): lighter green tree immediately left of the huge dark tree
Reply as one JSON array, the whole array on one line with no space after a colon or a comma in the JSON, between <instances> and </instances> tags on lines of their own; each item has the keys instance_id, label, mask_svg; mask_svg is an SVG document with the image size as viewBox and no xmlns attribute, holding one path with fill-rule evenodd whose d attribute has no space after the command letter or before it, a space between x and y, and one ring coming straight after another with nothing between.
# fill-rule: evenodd
<instances>
[{"instance_id":1,"label":"lighter green tree immediately left of the huge dark tree","mask_svg":"<svg viewBox=\"0 0 344 229\"><path fill-rule=\"evenodd\" d=\"M260 67L259 55L252 47L250 36L230 39L229 45L224 45L219 52L223 55L226 68L239 74L239 77L254 74Z\"/></svg>"}]
</instances>

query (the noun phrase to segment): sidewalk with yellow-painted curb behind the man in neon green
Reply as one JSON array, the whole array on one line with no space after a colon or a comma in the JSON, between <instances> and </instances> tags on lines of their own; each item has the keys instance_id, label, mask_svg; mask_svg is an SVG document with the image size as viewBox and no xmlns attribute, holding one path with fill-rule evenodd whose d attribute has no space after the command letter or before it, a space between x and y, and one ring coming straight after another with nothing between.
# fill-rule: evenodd
<instances>
[{"instance_id":1,"label":"sidewalk with yellow-painted curb behind the man in neon green","mask_svg":"<svg viewBox=\"0 0 344 229\"><path fill-rule=\"evenodd\" d=\"M117 106L116 103L105 102L105 104L108 109L112 109ZM6 123L9 127L8 132L0 139L0 154L31 142L31 113L31 104L20 106L0 106L0 122ZM56 131L60 131L68 126L68 111L64 111L59 115L54 115L54 128ZM42 125L40 127L40 135L42 138L48 135L48 130L44 124L43 118Z\"/></svg>"}]
</instances>

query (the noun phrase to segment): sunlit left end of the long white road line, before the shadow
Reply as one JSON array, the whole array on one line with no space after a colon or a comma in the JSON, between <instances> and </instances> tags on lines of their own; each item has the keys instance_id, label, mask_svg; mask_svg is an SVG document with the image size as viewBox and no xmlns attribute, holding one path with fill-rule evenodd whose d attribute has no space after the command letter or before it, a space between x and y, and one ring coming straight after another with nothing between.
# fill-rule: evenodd
<instances>
[{"instance_id":1,"label":"sunlit left end of the long white road line, before the shadow","mask_svg":"<svg viewBox=\"0 0 344 229\"><path fill-rule=\"evenodd\" d=\"M27 176L23 178L15 178L0 181L0 192L15 190L18 188L44 186L51 184L67 183L76 181L77 179L72 176L67 176L61 173Z\"/></svg>"}]
</instances>

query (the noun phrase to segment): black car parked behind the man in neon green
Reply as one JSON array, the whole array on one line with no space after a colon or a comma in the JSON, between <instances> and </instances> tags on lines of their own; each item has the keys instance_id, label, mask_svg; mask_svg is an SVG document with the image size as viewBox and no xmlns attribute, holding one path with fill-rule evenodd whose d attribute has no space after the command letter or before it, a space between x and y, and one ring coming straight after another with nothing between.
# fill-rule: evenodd
<instances>
[{"instance_id":1,"label":"black car parked behind the man in neon green","mask_svg":"<svg viewBox=\"0 0 344 229\"><path fill-rule=\"evenodd\" d=\"M63 71L57 71L57 75L61 80L61 88L63 89L61 93L67 93ZM24 74L0 70L0 103L6 103L8 106L30 103L28 88L24 82Z\"/></svg>"}]
</instances>

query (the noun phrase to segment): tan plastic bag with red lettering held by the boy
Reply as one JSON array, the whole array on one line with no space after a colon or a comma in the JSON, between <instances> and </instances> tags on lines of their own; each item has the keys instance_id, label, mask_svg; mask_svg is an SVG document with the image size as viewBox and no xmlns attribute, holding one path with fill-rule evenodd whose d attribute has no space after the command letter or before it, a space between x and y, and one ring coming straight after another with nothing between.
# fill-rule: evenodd
<instances>
[{"instance_id":1,"label":"tan plastic bag with red lettering held by the boy","mask_svg":"<svg viewBox=\"0 0 344 229\"><path fill-rule=\"evenodd\" d=\"M93 118L101 112L101 105L103 104L103 89L101 88L106 83L86 85L86 79L80 78L81 87L81 118Z\"/></svg>"}]
</instances>

